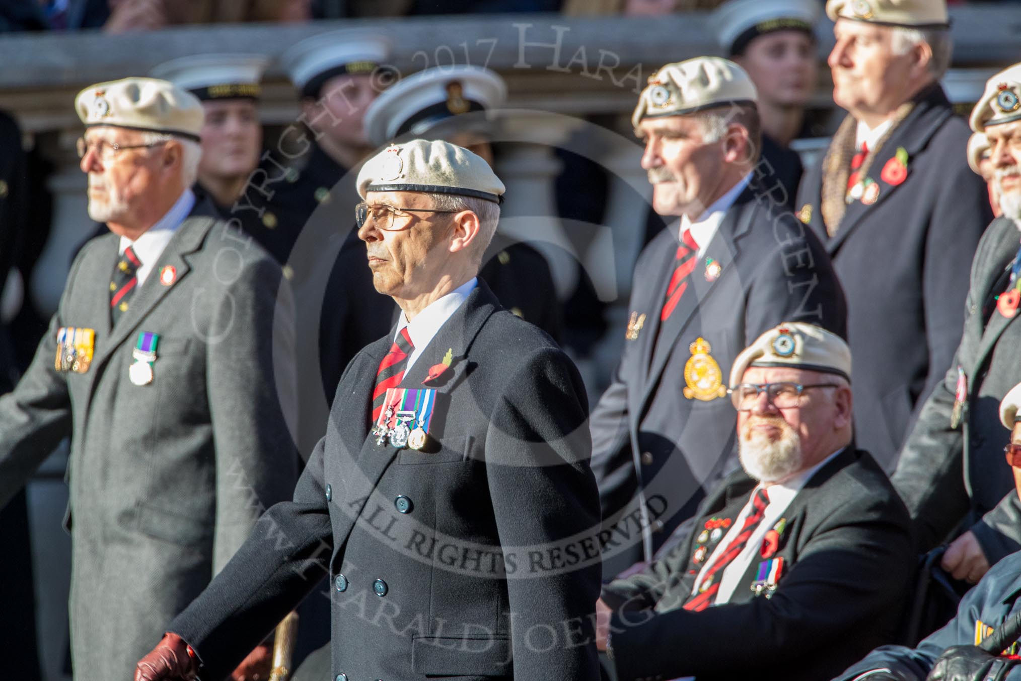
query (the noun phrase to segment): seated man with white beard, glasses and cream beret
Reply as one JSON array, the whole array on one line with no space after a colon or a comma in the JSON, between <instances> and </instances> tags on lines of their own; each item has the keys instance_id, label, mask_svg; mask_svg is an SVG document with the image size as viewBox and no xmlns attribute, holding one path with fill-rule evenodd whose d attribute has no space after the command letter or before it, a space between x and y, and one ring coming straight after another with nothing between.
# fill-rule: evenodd
<instances>
[{"instance_id":1,"label":"seated man with white beard, glasses and cream beret","mask_svg":"<svg viewBox=\"0 0 1021 681\"><path fill-rule=\"evenodd\" d=\"M596 604L619 681L827 679L895 639L915 566L907 510L852 430L850 350L800 322L734 360L743 471L693 532Z\"/></svg>"}]
</instances>

